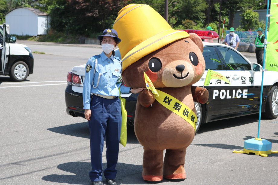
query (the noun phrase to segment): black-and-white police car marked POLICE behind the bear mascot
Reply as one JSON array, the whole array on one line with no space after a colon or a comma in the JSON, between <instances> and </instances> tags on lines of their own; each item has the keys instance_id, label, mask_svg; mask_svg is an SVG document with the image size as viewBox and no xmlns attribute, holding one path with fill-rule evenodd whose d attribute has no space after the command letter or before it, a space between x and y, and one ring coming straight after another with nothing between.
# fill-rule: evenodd
<instances>
[{"instance_id":1,"label":"black-and-white police car marked POLICE behind the bear mascot","mask_svg":"<svg viewBox=\"0 0 278 185\"><path fill-rule=\"evenodd\" d=\"M187 30L188 31L188 30ZM196 31L188 31L196 33ZM214 31L198 31L202 39L218 36ZM214 32L214 33L213 33ZM217 35L217 36L216 36ZM205 58L205 73L194 86L204 85L207 70L214 70L224 75L230 82L219 79L210 80L208 102L195 102L198 122L196 132L204 123L250 115L259 112L262 66L251 63L234 48L217 43L203 42L203 57ZM120 57L118 50L116 55ZM85 76L85 65L73 67L67 76L65 91L66 112L73 117L84 117L82 102L82 86ZM138 94L122 94L126 98L128 124L133 125ZM278 116L278 72L265 71L263 81L262 115L269 119Z\"/></svg>"}]
</instances>

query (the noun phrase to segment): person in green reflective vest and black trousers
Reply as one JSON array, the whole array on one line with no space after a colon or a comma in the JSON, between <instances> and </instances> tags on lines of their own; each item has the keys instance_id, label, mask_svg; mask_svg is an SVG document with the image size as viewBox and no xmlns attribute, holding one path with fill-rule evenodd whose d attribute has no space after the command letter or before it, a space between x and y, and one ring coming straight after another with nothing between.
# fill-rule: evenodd
<instances>
[{"instance_id":1,"label":"person in green reflective vest and black trousers","mask_svg":"<svg viewBox=\"0 0 278 185\"><path fill-rule=\"evenodd\" d=\"M263 46L264 46L263 29L258 28L255 31L257 31L257 36L255 38L255 53L256 53L257 63L263 66Z\"/></svg>"}]
</instances>

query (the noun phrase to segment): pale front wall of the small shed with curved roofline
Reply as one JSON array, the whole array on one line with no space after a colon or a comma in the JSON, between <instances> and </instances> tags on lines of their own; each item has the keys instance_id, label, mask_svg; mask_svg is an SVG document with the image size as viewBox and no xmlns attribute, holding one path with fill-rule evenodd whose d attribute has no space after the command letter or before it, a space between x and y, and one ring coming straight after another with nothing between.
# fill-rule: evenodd
<instances>
[{"instance_id":1,"label":"pale front wall of the small shed with curved roofline","mask_svg":"<svg viewBox=\"0 0 278 185\"><path fill-rule=\"evenodd\" d=\"M26 8L17 8L6 15L6 24L10 25L10 34L38 34L38 18L35 13Z\"/></svg>"}]
</instances>

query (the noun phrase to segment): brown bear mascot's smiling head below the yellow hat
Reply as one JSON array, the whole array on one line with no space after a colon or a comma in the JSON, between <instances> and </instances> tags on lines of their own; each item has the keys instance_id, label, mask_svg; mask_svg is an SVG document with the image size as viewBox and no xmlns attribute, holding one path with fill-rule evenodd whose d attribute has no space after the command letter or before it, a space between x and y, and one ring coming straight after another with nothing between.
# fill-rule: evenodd
<instances>
[{"instance_id":1,"label":"brown bear mascot's smiling head below the yellow hat","mask_svg":"<svg viewBox=\"0 0 278 185\"><path fill-rule=\"evenodd\" d=\"M205 71L203 43L197 34L189 35L128 66L122 73L126 86L146 87L144 72L155 88L183 87L198 82Z\"/></svg>"}]
</instances>

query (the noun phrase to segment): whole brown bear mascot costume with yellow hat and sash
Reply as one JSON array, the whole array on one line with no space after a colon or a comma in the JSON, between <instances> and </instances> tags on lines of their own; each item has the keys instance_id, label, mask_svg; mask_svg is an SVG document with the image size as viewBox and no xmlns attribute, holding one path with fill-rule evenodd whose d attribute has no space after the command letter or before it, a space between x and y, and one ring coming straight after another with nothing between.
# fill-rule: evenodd
<instances>
[{"instance_id":1,"label":"whole brown bear mascot costume with yellow hat and sash","mask_svg":"<svg viewBox=\"0 0 278 185\"><path fill-rule=\"evenodd\" d=\"M205 71L202 40L197 34L173 30L149 5L125 6L113 28L121 38L126 86L145 87L145 72L161 98L157 101L147 89L137 98L134 131L144 147L142 177L149 183L163 177L184 180L186 148L196 130L194 101L208 100L207 89L192 86Z\"/></svg>"}]
</instances>

